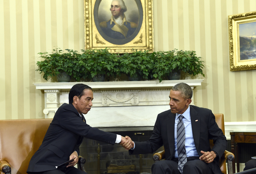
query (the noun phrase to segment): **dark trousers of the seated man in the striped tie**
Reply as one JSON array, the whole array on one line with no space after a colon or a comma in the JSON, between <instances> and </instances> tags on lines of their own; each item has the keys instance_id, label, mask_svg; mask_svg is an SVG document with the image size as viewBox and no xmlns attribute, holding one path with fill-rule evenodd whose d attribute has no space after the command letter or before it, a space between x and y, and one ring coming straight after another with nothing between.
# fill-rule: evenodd
<instances>
[{"instance_id":1,"label":"dark trousers of the seated man in the striped tie","mask_svg":"<svg viewBox=\"0 0 256 174\"><path fill-rule=\"evenodd\" d=\"M178 159L161 160L151 167L152 174L180 174L178 170ZM212 170L205 162L187 159L183 167L183 174L212 174Z\"/></svg>"}]
</instances>

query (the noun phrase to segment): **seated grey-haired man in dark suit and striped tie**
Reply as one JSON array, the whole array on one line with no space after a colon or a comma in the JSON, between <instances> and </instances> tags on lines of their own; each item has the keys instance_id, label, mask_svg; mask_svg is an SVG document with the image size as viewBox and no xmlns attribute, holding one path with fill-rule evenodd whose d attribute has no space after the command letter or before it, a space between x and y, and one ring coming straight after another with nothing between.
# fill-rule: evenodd
<instances>
[{"instance_id":1,"label":"seated grey-haired man in dark suit and striped tie","mask_svg":"<svg viewBox=\"0 0 256 174\"><path fill-rule=\"evenodd\" d=\"M130 155L153 153L164 145L166 160L153 164L152 174L222 173L218 161L227 147L226 137L216 124L211 110L189 105L192 95L193 91L189 85L175 85L169 95L170 110L158 114L151 138L148 141L132 143ZM185 127L184 158L178 154L178 138L182 135L177 131L180 130L178 122L183 122ZM212 149L209 139L214 142Z\"/></svg>"}]
</instances>

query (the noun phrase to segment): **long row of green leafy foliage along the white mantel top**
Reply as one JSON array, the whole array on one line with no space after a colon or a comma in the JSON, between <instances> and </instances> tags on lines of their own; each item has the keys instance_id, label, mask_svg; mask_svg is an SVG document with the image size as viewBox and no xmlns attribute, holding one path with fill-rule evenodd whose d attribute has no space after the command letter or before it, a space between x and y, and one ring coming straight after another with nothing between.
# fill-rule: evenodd
<instances>
[{"instance_id":1,"label":"long row of green leafy foliage along the white mantel top","mask_svg":"<svg viewBox=\"0 0 256 174\"><path fill-rule=\"evenodd\" d=\"M132 53L125 53L122 56L109 52L108 48L78 51L59 48L53 52L40 52L38 69L43 78L58 75L62 72L71 75L76 81L92 79L95 75L107 75L116 77L121 73L129 77L143 77L143 79L159 79L161 82L170 72L183 71L189 75L203 73L203 61L197 57L195 51L159 51L149 52L148 50L133 50Z\"/></svg>"}]
</instances>

